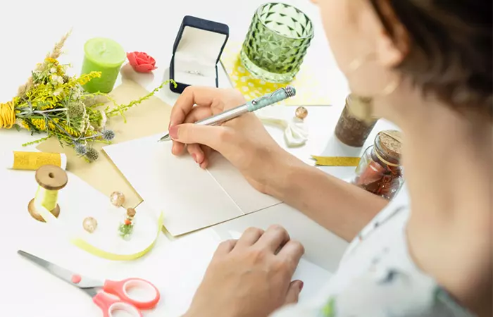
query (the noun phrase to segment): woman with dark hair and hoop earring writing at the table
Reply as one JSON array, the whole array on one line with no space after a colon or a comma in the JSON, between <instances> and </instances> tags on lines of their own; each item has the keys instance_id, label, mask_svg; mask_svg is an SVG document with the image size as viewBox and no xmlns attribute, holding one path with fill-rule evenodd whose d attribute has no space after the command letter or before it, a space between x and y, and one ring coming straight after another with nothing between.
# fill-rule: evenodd
<instances>
[{"instance_id":1,"label":"woman with dark hair and hoop earring writing at the table","mask_svg":"<svg viewBox=\"0 0 493 317\"><path fill-rule=\"evenodd\" d=\"M185 316L492 316L492 1L318 6L351 91L366 97L354 113L404 133L411 206L306 166L253 114L190 124L244 99L189 88L171 116L173 154L186 149L206 167L219 151L256 189L353 242L320 297L295 306L303 247L278 226L250 228L218 247Z\"/></svg>"}]
</instances>

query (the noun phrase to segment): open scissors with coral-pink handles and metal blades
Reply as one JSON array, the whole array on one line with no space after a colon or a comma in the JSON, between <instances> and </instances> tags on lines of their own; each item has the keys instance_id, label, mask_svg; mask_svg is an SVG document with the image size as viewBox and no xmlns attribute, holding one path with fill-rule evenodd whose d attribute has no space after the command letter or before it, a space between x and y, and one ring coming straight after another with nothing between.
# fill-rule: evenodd
<instances>
[{"instance_id":1,"label":"open scissors with coral-pink handles and metal blades","mask_svg":"<svg viewBox=\"0 0 493 317\"><path fill-rule=\"evenodd\" d=\"M49 261L39 259L37 256L25 251L18 250L17 252L26 259L41 266L49 273L85 291L92 297L92 301L103 311L104 317L112 317L113 312L116 311L125 311L132 317L142 317L142 313L139 310L153 309L161 297L156 286L140 278L127 278L120 281L93 280L70 272ZM146 293L152 295L148 297L149 300L146 302L141 299L132 298L127 291L134 288L146 290ZM99 292L101 289L103 292ZM111 295L118 297L118 299Z\"/></svg>"}]
</instances>

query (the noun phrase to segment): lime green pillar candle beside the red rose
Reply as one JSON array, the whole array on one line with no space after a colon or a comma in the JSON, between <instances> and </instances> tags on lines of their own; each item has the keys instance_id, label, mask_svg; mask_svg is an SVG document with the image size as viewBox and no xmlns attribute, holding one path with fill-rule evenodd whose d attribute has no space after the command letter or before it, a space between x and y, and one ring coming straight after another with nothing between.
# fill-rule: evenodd
<instances>
[{"instance_id":1,"label":"lime green pillar candle beside the red rose","mask_svg":"<svg viewBox=\"0 0 493 317\"><path fill-rule=\"evenodd\" d=\"M111 92L115 86L120 68L127 58L123 47L113 39L96 37L84 45L84 63L82 75L93 71L101 72L101 77L94 78L84 85L87 92Z\"/></svg>"}]
</instances>

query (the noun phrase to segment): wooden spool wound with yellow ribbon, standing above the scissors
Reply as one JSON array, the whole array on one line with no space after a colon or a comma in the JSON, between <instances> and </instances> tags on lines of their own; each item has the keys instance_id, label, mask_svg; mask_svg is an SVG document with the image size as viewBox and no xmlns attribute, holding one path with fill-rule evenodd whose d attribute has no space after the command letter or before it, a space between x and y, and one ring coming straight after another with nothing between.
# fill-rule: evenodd
<instances>
[{"instance_id":1,"label":"wooden spool wound with yellow ribbon, standing above the scissors","mask_svg":"<svg viewBox=\"0 0 493 317\"><path fill-rule=\"evenodd\" d=\"M58 206L58 191L65 187L68 176L65 170L54 165L45 165L36 170L36 182L39 184L35 198L31 199L27 210L32 218L45 222L36 210L36 206L44 206L53 216L58 218L60 206Z\"/></svg>"}]
</instances>

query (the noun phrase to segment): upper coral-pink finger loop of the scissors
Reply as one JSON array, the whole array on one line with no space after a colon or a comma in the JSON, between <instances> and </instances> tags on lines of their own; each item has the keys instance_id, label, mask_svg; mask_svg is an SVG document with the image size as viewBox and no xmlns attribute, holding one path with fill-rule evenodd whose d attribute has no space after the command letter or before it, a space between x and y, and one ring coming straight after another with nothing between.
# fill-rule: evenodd
<instances>
[{"instance_id":1,"label":"upper coral-pink finger loop of the scissors","mask_svg":"<svg viewBox=\"0 0 493 317\"><path fill-rule=\"evenodd\" d=\"M138 288L149 292L147 299L135 299L130 297L128 290ZM121 281L104 281L104 292L120 297L123 302L127 302L137 307L137 309L153 309L159 302L161 295L156 286L151 282L142 280L141 278L127 278Z\"/></svg>"}]
</instances>

